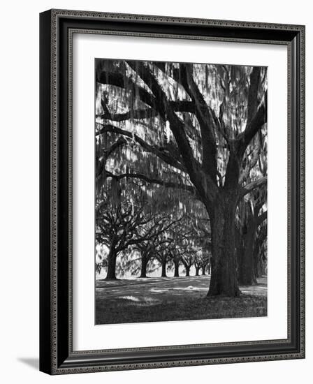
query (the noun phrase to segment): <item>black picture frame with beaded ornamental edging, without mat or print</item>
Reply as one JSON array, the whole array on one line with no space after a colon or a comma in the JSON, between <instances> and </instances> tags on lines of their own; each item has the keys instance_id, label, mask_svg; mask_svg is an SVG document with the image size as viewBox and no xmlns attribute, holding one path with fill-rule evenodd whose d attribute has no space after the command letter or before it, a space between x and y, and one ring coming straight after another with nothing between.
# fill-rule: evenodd
<instances>
[{"instance_id":1,"label":"black picture frame with beaded ornamental edging, without mat or print","mask_svg":"<svg viewBox=\"0 0 313 384\"><path fill-rule=\"evenodd\" d=\"M73 34L78 32L287 45L290 293L288 339L73 351L71 58ZM66 295L61 297L60 290L66 290ZM112 359L113 355L115 359ZM41 371L48 374L74 374L303 357L305 27L76 10L49 10L41 13Z\"/></svg>"}]
</instances>

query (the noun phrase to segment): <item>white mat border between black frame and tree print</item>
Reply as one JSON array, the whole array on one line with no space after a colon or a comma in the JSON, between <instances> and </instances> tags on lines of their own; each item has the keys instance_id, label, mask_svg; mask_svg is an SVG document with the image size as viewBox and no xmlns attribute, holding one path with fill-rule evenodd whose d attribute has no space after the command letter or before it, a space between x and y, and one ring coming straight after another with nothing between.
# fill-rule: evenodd
<instances>
[{"instance_id":1,"label":"white mat border between black frame and tree print","mask_svg":"<svg viewBox=\"0 0 313 384\"><path fill-rule=\"evenodd\" d=\"M268 66L268 317L94 325L94 58ZM287 48L73 35L73 350L287 337Z\"/></svg>"}]
</instances>

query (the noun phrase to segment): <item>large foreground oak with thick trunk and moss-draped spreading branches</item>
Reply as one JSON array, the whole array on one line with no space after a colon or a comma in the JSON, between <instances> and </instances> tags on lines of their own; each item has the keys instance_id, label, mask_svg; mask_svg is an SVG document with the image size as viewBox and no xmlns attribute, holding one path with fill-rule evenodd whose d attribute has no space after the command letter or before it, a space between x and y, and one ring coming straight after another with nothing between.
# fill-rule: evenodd
<instances>
[{"instance_id":1,"label":"large foreground oak with thick trunk and moss-draped spreading branches","mask_svg":"<svg viewBox=\"0 0 313 384\"><path fill-rule=\"evenodd\" d=\"M209 295L238 296L235 211L266 184L259 172L248 177L254 168L247 167L256 134L266 131L266 68L99 59L96 84L96 138L116 135L137 153L132 169L105 177L140 179L201 201L211 228Z\"/></svg>"}]
</instances>

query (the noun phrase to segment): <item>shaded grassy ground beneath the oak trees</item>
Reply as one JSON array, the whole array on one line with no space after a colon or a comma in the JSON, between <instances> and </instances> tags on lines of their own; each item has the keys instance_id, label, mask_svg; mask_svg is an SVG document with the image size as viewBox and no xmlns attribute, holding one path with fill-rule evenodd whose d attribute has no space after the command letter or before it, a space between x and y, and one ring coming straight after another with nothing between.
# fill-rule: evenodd
<instances>
[{"instance_id":1,"label":"shaded grassy ground beneath the oak trees","mask_svg":"<svg viewBox=\"0 0 313 384\"><path fill-rule=\"evenodd\" d=\"M96 281L96 324L267 316L267 279L240 297L207 297L210 276Z\"/></svg>"}]
</instances>

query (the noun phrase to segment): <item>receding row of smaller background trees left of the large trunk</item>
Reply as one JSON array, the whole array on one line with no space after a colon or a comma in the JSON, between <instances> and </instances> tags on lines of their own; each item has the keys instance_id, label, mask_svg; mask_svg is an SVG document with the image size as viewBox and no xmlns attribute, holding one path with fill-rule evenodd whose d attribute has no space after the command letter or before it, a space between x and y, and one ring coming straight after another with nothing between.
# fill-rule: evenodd
<instances>
[{"instance_id":1,"label":"receding row of smaller background trees left of the large trunk","mask_svg":"<svg viewBox=\"0 0 313 384\"><path fill-rule=\"evenodd\" d=\"M99 252L96 269L105 267L107 279L115 279L117 273L138 276L140 272L140 277L147 277L147 272L160 266L161 276L171 267L174 276L179 276L180 265L187 276L192 265L197 275L200 269L204 274L210 265L210 224L196 216L198 202L180 195L184 209L175 211L178 196L173 193L172 199L161 199L163 187L150 196L142 184L115 183L110 179L105 184L108 191L101 189L97 200L96 242L103 252Z\"/></svg>"}]
</instances>

